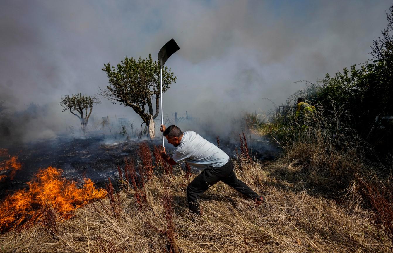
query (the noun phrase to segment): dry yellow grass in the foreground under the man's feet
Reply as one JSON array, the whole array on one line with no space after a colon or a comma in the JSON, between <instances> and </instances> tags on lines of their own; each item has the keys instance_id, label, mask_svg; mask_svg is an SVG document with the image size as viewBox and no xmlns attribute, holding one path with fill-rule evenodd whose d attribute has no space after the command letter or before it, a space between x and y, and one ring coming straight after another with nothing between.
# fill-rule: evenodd
<instances>
[{"instance_id":1,"label":"dry yellow grass in the foreground under the man's feet","mask_svg":"<svg viewBox=\"0 0 393 253\"><path fill-rule=\"evenodd\" d=\"M236 173L267 197L253 202L220 182L203 196L203 215L187 209L183 174L146 183L147 203L138 208L134 191L120 192L121 211L114 217L95 202L75 211L57 231L34 226L0 235L1 252L167 252L167 220L161 197L173 199L173 225L178 252L390 252L386 235L374 224L371 211L357 202L336 203L301 182L279 179L275 171L301 168L285 159L266 163L235 161ZM195 176L195 175L193 175ZM165 177L165 176L164 176ZM108 205L108 200L103 202Z\"/></svg>"}]
</instances>

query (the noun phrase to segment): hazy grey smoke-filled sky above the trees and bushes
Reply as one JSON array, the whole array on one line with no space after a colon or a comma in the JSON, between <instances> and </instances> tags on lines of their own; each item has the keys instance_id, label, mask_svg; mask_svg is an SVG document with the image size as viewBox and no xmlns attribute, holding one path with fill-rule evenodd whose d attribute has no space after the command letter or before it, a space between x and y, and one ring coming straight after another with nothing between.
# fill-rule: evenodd
<instances>
[{"instance_id":1,"label":"hazy grey smoke-filled sky above the trees and bushes","mask_svg":"<svg viewBox=\"0 0 393 253\"><path fill-rule=\"evenodd\" d=\"M389 1L19 1L1 0L0 101L23 117L26 139L79 124L59 101L108 85L101 70L126 56L154 60L171 38L166 66L177 77L165 114L191 112L215 127L244 111L273 107L326 73L362 65L386 27ZM106 98L97 117L131 108ZM28 126L28 127L27 127ZM228 127L228 126L227 126Z\"/></svg>"}]
</instances>

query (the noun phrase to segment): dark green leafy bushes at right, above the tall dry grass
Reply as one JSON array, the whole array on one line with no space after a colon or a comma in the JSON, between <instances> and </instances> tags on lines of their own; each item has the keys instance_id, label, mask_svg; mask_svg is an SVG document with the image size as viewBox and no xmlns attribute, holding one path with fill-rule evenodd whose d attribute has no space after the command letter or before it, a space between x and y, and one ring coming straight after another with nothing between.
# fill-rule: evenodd
<instances>
[{"instance_id":1,"label":"dark green leafy bushes at right, above the tall dry grass","mask_svg":"<svg viewBox=\"0 0 393 253\"><path fill-rule=\"evenodd\" d=\"M393 139L393 124L387 118L393 116L392 73L387 62L375 60L360 69L345 68L334 77L326 75L319 84L311 84L296 95L306 97L328 120L340 115L339 131L356 131L384 159L393 153L389 141Z\"/></svg>"}]
</instances>

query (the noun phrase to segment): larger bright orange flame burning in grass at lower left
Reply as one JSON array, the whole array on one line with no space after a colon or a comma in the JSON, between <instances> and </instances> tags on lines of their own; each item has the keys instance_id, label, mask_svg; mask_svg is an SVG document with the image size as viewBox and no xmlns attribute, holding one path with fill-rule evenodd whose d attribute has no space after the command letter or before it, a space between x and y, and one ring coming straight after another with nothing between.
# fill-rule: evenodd
<instances>
[{"instance_id":1,"label":"larger bright orange flame burning in grass at lower left","mask_svg":"<svg viewBox=\"0 0 393 253\"><path fill-rule=\"evenodd\" d=\"M84 180L83 188L79 189L61 173L61 169L53 167L40 169L27 183L29 189L7 196L0 204L0 232L44 222L44 210L48 206L58 214L58 219L69 219L73 210L107 194L104 189L96 189L90 178Z\"/></svg>"}]
</instances>

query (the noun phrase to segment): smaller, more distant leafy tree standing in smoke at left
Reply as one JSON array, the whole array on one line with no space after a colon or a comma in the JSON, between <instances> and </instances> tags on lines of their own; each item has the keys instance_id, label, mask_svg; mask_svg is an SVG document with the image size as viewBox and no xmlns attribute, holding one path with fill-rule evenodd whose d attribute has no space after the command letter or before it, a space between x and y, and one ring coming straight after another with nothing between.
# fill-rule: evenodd
<instances>
[{"instance_id":1,"label":"smaller, more distant leafy tree standing in smoke at left","mask_svg":"<svg viewBox=\"0 0 393 253\"><path fill-rule=\"evenodd\" d=\"M92 114L93 104L99 104L100 101L94 95L92 97L81 93L65 95L61 97L59 105L63 107L63 112L70 110L70 113L77 116L81 121L81 128L83 132L86 130L86 125L89 121L90 114ZM76 114L76 112L79 114Z\"/></svg>"}]
</instances>

